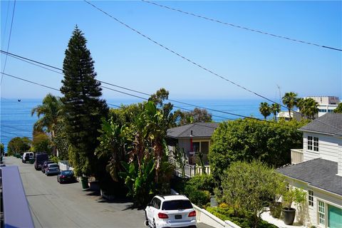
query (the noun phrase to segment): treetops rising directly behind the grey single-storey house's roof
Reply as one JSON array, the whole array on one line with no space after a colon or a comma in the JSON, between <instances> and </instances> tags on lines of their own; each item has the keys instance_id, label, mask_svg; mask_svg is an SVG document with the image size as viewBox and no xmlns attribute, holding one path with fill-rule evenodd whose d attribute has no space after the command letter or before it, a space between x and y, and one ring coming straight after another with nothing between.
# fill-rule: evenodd
<instances>
[{"instance_id":1,"label":"treetops rising directly behind the grey single-storey house's roof","mask_svg":"<svg viewBox=\"0 0 342 228\"><path fill-rule=\"evenodd\" d=\"M195 108L191 111L175 110L172 114L173 127L187 125L190 123L207 123L212 122L212 114L206 109Z\"/></svg>"}]
</instances>

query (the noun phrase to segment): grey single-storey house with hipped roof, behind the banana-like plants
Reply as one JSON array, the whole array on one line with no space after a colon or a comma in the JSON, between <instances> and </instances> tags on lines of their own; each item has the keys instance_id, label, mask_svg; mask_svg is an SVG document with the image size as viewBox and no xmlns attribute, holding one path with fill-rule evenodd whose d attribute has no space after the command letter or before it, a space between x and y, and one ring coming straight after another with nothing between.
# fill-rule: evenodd
<instances>
[{"instance_id":1,"label":"grey single-storey house with hipped roof, behind the banana-like plants","mask_svg":"<svg viewBox=\"0 0 342 228\"><path fill-rule=\"evenodd\" d=\"M212 133L218 123L192 123L167 130L167 146L175 152L176 145L184 150L188 164L195 165L195 153L201 151L205 164L211 143Z\"/></svg>"}]
</instances>

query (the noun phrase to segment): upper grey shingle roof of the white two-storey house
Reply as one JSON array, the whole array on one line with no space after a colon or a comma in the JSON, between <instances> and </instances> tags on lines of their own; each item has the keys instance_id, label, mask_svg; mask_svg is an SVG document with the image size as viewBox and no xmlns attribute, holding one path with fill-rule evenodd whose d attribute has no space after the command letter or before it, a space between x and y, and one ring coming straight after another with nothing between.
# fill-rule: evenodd
<instances>
[{"instance_id":1,"label":"upper grey shingle roof of the white two-storey house","mask_svg":"<svg viewBox=\"0 0 342 228\"><path fill-rule=\"evenodd\" d=\"M326 113L299 130L342 136L342 113Z\"/></svg>"}]
</instances>

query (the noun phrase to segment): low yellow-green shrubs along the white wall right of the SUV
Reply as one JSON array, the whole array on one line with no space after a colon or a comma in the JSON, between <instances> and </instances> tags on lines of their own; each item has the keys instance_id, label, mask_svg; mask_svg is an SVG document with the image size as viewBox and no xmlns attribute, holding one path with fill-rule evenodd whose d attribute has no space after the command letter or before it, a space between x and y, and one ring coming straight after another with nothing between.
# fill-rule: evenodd
<instances>
[{"instance_id":1,"label":"low yellow-green shrubs along the white wall right of the SUV","mask_svg":"<svg viewBox=\"0 0 342 228\"><path fill-rule=\"evenodd\" d=\"M234 214L234 209L232 207L229 207L227 204L224 205L224 207L207 207L207 211L214 214L216 217L222 220L229 220L231 222L234 222L234 224L237 224L239 227L242 228L250 228L253 227L252 220L250 219L250 215L245 213ZM257 227L260 228L276 228L273 224L269 224L266 221L260 220Z\"/></svg>"}]
</instances>

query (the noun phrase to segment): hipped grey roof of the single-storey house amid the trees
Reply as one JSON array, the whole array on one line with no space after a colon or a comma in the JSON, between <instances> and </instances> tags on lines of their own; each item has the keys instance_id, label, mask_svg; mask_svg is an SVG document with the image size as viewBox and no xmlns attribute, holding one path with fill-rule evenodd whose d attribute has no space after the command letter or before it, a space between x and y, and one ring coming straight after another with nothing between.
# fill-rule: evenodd
<instances>
[{"instance_id":1,"label":"hipped grey roof of the single-storey house amid the trees","mask_svg":"<svg viewBox=\"0 0 342 228\"><path fill-rule=\"evenodd\" d=\"M218 123L192 123L167 130L171 138L210 138Z\"/></svg>"}]
</instances>

